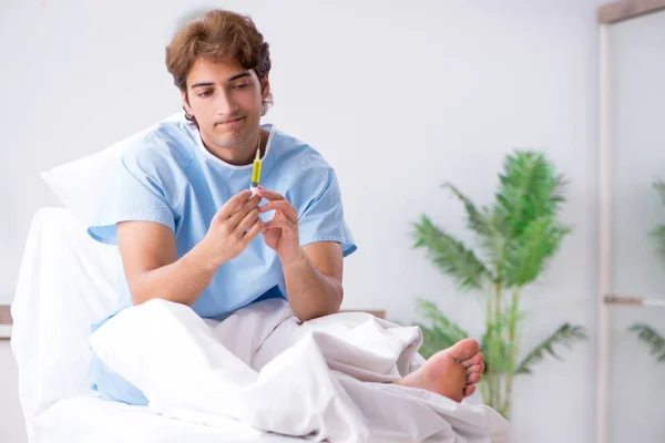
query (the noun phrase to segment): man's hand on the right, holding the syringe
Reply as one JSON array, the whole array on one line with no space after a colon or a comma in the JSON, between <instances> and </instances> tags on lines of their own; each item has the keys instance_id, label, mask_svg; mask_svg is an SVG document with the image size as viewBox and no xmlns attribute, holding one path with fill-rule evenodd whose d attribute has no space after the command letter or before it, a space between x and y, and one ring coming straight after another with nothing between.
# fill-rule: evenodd
<instances>
[{"instance_id":1,"label":"man's hand on the right, holding the syringe","mask_svg":"<svg viewBox=\"0 0 665 443\"><path fill-rule=\"evenodd\" d=\"M266 245L277 253L283 265L297 259L303 254L298 237L298 212L282 194L260 186L256 194L268 200L259 207L262 213L275 210L273 218L263 224Z\"/></svg>"}]
</instances>

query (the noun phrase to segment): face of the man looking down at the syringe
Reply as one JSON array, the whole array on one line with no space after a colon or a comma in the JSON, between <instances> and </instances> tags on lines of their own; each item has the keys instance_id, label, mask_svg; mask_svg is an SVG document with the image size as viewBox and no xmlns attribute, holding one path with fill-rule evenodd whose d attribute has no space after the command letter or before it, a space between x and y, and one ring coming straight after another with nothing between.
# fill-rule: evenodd
<instances>
[{"instance_id":1,"label":"face of the man looking down at the syringe","mask_svg":"<svg viewBox=\"0 0 665 443\"><path fill-rule=\"evenodd\" d=\"M262 101L269 93L254 70L237 61L214 62L198 58L187 75L185 110L196 117L204 143L214 151L249 150L256 143ZM187 101L188 96L188 101Z\"/></svg>"}]
</instances>

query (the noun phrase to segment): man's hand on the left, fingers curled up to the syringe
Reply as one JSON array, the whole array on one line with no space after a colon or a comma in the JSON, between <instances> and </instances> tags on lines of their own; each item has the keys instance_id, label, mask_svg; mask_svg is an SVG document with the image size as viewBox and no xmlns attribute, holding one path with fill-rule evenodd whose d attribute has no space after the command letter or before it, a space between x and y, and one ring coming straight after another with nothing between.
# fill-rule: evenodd
<instances>
[{"instance_id":1,"label":"man's hand on the left, fingers curled up to the syringe","mask_svg":"<svg viewBox=\"0 0 665 443\"><path fill-rule=\"evenodd\" d=\"M239 256L260 233L260 197L249 198L252 192L248 189L236 194L213 216L203 239L213 266L218 267Z\"/></svg>"}]
</instances>

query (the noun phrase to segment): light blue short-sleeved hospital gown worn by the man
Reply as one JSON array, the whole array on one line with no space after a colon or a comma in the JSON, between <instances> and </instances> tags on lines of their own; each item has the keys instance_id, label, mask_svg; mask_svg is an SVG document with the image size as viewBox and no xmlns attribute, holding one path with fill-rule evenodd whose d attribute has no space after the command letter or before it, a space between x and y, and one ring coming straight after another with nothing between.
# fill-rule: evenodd
<instances>
[{"instance_id":1,"label":"light blue short-sleeved hospital gown worn by the man","mask_svg":"<svg viewBox=\"0 0 665 443\"><path fill-rule=\"evenodd\" d=\"M336 241L345 257L354 253L356 243L344 218L335 171L311 146L273 125L262 127L270 135L260 183L284 195L298 212L300 245ZM252 165L235 166L215 157L203 145L196 126L182 120L156 125L123 153L113 174L88 233L98 241L115 245L117 223L160 223L173 230L180 258L204 238L224 203L249 187ZM272 212L262 214L264 220L270 217ZM124 279L122 288L116 309L93 324L93 330L132 306ZM282 266L258 235L243 254L219 267L192 309L202 318L223 319L274 297L286 298ZM96 358L90 377L104 399L147 403L141 391Z\"/></svg>"}]
</instances>

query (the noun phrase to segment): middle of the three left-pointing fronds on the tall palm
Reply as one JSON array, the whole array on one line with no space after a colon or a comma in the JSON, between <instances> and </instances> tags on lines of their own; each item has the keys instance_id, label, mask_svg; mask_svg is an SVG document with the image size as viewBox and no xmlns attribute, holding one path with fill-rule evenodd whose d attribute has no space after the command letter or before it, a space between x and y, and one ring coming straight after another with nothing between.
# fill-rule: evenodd
<instances>
[{"instance_id":1,"label":"middle of the three left-pointing fronds on the tall palm","mask_svg":"<svg viewBox=\"0 0 665 443\"><path fill-rule=\"evenodd\" d=\"M429 258L443 274L451 276L461 290L482 288L488 270L472 250L436 227L424 215L413 227L413 246L426 247Z\"/></svg>"}]
</instances>

